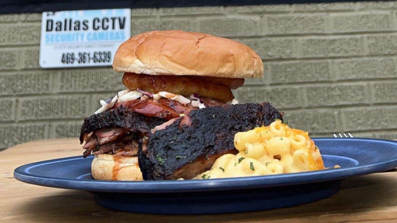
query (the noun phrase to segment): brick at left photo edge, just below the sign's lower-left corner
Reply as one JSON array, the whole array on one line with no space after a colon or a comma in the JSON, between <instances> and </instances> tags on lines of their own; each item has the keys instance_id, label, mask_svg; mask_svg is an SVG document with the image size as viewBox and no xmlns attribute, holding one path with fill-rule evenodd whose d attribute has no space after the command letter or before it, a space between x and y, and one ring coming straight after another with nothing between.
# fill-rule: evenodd
<instances>
[{"instance_id":1,"label":"brick at left photo edge, just below the sign's lower-left corner","mask_svg":"<svg viewBox=\"0 0 397 223\"><path fill-rule=\"evenodd\" d=\"M50 92L50 72L0 74L0 95Z\"/></svg>"}]
</instances>

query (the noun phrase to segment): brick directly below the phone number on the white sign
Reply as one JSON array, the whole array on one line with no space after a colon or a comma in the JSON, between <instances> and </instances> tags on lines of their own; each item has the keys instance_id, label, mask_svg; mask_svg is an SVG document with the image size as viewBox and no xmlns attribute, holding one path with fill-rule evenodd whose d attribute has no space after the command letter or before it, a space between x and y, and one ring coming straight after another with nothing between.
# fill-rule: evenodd
<instances>
[{"instance_id":1,"label":"brick directly below the phone number on the white sign","mask_svg":"<svg viewBox=\"0 0 397 223\"><path fill-rule=\"evenodd\" d=\"M122 73L112 69L61 70L56 79L58 92L103 92L125 89Z\"/></svg>"}]
</instances>

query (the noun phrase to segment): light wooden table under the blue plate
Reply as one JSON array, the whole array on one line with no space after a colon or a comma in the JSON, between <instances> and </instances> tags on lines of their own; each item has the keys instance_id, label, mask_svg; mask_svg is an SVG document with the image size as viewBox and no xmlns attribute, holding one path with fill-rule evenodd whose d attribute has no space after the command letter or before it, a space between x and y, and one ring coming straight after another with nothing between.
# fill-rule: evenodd
<instances>
[{"instance_id":1,"label":"light wooden table under the blue plate","mask_svg":"<svg viewBox=\"0 0 397 223\"><path fill-rule=\"evenodd\" d=\"M397 171L342 181L330 198L291 208L221 215L148 215L113 211L85 191L29 185L19 165L81 155L77 138L37 140L0 152L0 222L397 222Z\"/></svg>"}]
</instances>

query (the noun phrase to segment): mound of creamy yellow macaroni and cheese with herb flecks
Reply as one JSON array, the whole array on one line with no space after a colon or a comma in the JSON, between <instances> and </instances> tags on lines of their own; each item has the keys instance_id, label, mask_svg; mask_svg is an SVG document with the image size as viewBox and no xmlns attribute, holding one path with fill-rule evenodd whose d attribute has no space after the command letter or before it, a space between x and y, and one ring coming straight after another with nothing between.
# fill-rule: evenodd
<instances>
[{"instance_id":1,"label":"mound of creamy yellow macaroni and cheese with herb flecks","mask_svg":"<svg viewBox=\"0 0 397 223\"><path fill-rule=\"evenodd\" d=\"M195 179L248 177L325 169L320 151L307 132L276 120L234 136L237 155L225 154Z\"/></svg>"}]
</instances>

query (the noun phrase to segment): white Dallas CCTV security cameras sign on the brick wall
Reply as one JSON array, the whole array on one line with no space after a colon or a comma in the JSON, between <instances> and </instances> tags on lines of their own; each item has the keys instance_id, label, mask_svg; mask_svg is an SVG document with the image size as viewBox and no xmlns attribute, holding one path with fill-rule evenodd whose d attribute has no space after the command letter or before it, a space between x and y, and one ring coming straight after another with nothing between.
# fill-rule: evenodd
<instances>
[{"instance_id":1,"label":"white Dallas CCTV security cameras sign on the brick wall","mask_svg":"<svg viewBox=\"0 0 397 223\"><path fill-rule=\"evenodd\" d=\"M109 66L129 37L130 9L43 12L40 66Z\"/></svg>"}]
</instances>

